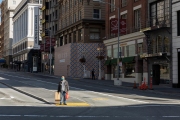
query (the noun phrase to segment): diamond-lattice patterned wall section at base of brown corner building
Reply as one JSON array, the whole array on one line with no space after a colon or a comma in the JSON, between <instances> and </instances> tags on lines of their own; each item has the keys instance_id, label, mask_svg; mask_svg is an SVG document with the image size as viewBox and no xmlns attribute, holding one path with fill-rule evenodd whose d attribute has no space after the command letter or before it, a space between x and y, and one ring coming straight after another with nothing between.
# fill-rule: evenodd
<instances>
[{"instance_id":1,"label":"diamond-lattice patterned wall section at base of brown corner building","mask_svg":"<svg viewBox=\"0 0 180 120\"><path fill-rule=\"evenodd\" d=\"M105 46L102 43L73 43L71 44L71 63L70 71L71 77L83 77L83 65L79 62L84 55L86 59L86 70L95 70L95 76L98 77L99 73L99 62L96 56L99 55L97 48L103 48L101 55L105 56ZM101 70L105 70L105 60L101 61Z\"/></svg>"}]
</instances>

